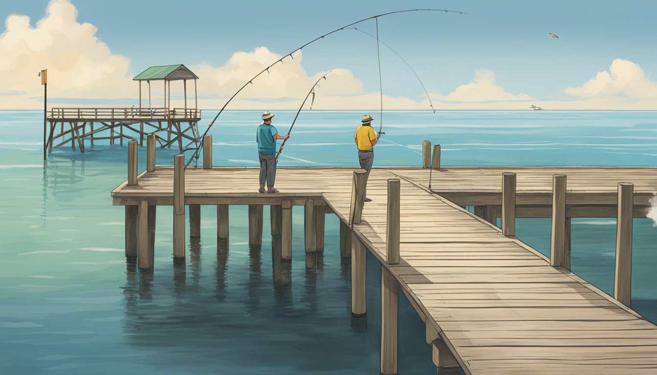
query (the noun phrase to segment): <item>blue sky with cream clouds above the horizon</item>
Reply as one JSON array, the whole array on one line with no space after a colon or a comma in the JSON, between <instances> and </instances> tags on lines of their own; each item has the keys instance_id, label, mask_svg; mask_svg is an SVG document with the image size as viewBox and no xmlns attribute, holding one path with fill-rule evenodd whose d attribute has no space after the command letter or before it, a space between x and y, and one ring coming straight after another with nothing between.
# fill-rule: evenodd
<instances>
[{"instance_id":1,"label":"blue sky with cream clouds above the horizon","mask_svg":"<svg viewBox=\"0 0 657 375\"><path fill-rule=\"evenodd\" d=\"M168 64L200 77L200 108L221 108L315 37L404 9L466 14L378 18L379 39L394 50L378 46L384 109L428 110L430 98L439 110L657 110L657 2L631 0L4 1L0 109L43 108L37 73L46 68L53 106L138 105L132 77ZM374 20L355 27L376 35ZM304 47L227 108L297 109L329 70L313 108L380 108L376 39L363 32L342 30ZM151 84L152 106L164 104L162 89ZM193 100L193 85L187 90ZM173 82L173 105L182 93Z\"/></svg>"}]
</instances>

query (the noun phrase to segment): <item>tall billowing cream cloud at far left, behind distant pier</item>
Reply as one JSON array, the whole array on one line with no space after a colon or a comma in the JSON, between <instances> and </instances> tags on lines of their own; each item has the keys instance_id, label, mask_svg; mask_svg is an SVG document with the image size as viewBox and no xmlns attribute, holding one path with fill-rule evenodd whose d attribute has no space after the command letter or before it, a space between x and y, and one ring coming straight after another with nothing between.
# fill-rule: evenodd
<instances>
[{"instance_id":1,"label":"tall billowing cream cloud at far left, behind distant pier","mask_svg":"<svg viewBox=\"0 0 657 375\"><path fill-rule=\"evenodd\" d=\"M0 34L0 93L22 95L5 99L31 102L29 98L40 96L43 88L37 73L41 69L48 70L49 97L111 99L135 90L128 76L128 58L112 54L95 36L96 26L81 24L77 17L78 10L68 0L51 1L35 26L28 16L7 17Z\"/></svg>"}]
</instances>

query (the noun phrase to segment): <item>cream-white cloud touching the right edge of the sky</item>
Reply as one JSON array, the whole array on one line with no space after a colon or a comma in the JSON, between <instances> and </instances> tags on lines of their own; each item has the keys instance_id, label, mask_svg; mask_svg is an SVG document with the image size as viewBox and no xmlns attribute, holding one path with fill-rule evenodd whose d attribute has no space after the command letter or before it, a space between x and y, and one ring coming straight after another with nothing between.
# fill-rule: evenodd
<instances>
[{"instance_id":1,"label":"cream-white cloud touching the right edge of the sky","mask_svg":"<svg viewBox=\"0 0 657 375\"><path fill-rule=\"evenodd\" d=\"M657 98L657 84L646 78L641 66L616 58L608 72L598 72L580 87L568 87L564 92L585 98L654 99Z\"/></svg>"}]
</instances>

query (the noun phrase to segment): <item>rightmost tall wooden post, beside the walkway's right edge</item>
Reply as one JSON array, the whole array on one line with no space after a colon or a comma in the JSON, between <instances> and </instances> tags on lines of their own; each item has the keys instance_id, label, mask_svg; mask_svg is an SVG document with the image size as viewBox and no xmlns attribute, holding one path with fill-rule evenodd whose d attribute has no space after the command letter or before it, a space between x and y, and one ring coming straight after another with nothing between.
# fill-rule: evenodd
<instances>
[{"instance_id":1,"label":"rightmost tall wooden post, beside the walkway's right edge","mask_svg":"<svg viewBox=\"0 0 657 375\"><path fill-rule=\"evenodd\" d=\"M618 221L616 223L616 273L614 298L630 307L632 299L632 213L634 185L618 184Z\"/></svg>"}]
</instances>

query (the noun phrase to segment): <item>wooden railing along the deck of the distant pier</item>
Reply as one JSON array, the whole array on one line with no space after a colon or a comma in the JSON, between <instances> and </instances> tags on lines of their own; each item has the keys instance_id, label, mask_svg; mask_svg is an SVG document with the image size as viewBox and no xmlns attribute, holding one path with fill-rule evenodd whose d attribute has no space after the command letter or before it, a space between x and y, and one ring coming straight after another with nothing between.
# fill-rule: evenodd
<instances>
[{"instance_id":1,"label":"wooden railing along the deck of the distant pier","mask_svg":"<svg viewBox=\"0 0 657 375\"><path fill-rule=\"evenodd\" d=\"M51 108L51 119L122 119L173 120L200 118L201 110L194 108Z\"/></svg>"}]
</instances>

